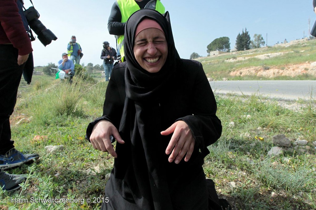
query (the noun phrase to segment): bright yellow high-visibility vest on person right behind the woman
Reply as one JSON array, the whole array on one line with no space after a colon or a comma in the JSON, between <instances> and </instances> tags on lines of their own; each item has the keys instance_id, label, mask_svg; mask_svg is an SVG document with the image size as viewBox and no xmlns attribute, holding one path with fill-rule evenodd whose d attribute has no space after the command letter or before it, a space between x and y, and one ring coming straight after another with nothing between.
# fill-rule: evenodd
<instances>
[{"instance_id":1,"label":"bright yellow high-visibility vest on person right behind the woman","mask_svg":"<svg viewBox=\"0 0 316 210\"><path fill-rule=\"evenodd\" d=\"M122 20L121 23L125 23L128 18L137 10L140 10L138 4L135 0L117 0L119 9L121 11ZM161 14L165 13L165 7L162 5L160 0L156 0L156 11L160 12ZM118 45L119 45L119 52L121 54L121 61L124 58L124 35L118 36Z\"/></svg>"}]
</instances>

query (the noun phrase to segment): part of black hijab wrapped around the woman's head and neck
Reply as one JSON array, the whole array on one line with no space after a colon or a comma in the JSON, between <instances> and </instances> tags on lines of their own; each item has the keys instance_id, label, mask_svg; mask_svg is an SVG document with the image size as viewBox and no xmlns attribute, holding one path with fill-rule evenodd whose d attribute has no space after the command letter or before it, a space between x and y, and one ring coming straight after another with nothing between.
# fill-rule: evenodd
<instances>
[{"instance_id":1,"label":"part of black hijab wrapped around the woman's head and neck","mask_svg":"<svg viewBox=\"0 0 316 210\"><path fill-rule=\"evenodd\" d=\"M144 70L134 56L135 32L138 24L145 18L155 20L161 26L167 40L167 59L164 66L157 73L149 73ZM174 75L175 67L180 60L174 46L169 13L166 12L161 15L152 9L141 9L132 14L125 25L124 51L128 70L125 71L127 96L137 101L154 97L156 92L161 90Z\"/></svg>"}]
</instances>

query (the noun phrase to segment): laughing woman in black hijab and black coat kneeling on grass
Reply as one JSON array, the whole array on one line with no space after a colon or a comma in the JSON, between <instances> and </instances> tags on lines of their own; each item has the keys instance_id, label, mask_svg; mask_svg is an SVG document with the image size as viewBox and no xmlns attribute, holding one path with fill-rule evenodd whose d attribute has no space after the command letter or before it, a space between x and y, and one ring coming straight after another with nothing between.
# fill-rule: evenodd
<instances>
[{"instance_id":1,"label":"laughing woman in black hijab and black coat kneeling on grass","mask_svg":"<svg viewBox=\"0 0 316 210\"><path fill-rule=\"evenodd\" d=\"M131 15L124 47L103 116L87 128L94 149L115 157L102 209L209 209L202 165L222 125L202 64L179 58L168 12Z\"/></svg>"}]
</instances>

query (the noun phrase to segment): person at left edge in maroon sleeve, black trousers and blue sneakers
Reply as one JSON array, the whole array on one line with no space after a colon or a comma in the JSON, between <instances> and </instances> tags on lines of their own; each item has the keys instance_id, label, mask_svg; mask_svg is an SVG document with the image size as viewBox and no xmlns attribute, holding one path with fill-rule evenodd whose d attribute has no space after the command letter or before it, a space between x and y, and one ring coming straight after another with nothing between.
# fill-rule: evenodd
<instances>
[{"instance_id":1,"label":"person at left edge in maroon sleeve, black trousers and blue sneakers","mask_svg":"<svg viewBox=\"0 0 316 210\"><path fill-rule=\"evenodd\" d=\"M33 59L31 40L26 32L28 23L25 15L21 16L23 14L20 0L0 1L0 188L8 192L19 189L26 177L2 170L39 157L38 154L21 153L15 149L15 141L11 139L10 116L15 107L22 71Z\"/></svg>"}]
</instances>

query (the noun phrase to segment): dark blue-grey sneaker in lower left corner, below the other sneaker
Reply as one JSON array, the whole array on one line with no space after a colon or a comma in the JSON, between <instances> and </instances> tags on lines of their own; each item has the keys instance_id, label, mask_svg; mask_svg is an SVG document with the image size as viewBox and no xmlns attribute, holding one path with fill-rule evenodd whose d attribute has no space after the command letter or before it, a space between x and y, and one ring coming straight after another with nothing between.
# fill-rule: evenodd
<instances>
[{"instance_id":1,"label":"dark blue-grey sneaker in lower left corner, below the other sneaker","mask_svg":"<svg viewBox=\"0 0 316 210\"><path fill-rule=\"evenodd\" d=\"M15 174L8 174L0 171L0 188L7 190L8 192L17 190L21 186L20 184L26 180L26 177Z\"/></svg>"}]
</instances>

